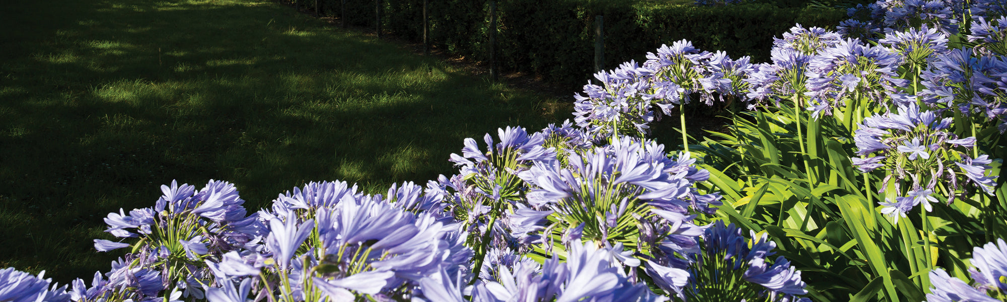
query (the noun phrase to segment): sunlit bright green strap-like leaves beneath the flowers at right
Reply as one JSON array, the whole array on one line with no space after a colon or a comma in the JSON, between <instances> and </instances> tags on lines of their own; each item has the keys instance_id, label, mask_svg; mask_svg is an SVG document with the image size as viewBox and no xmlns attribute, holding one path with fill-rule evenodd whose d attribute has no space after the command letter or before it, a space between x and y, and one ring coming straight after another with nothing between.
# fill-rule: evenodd
<instances>
[{"instance_id":1,"label":"sunlit bright green strap-like leaves beneath the flowers at right","mask_svg":"<svg viewBox=\"0 0 1007 302\"><path fill-rule=\"evenodd\" d=\"M767 232L779 255L804 272L814 301L922 301L929 268L968 276L972 247L1004 236L1003 201L996 201L1007 193L1002 177L998 199L973 191L926 216L915 210L896 223L877 203L885 198L877 193L885 175L861 173L850 162L857 156L850 123L840 117L809 120L792 106L784 100L778 108L737 113L728 133L711 133L697 151L712 174L710 189L724 192L718 213ZM799 116L801 123L795 123ZM963 122L963 131L970 122ZM983 129L982 122L974 125ZM806 140L798 139L797 127L807 130ZM1004 157L1001 142L980 141L991 157ZM927 229L929 245L923 243Z\"/></svg>"}]
</instances>

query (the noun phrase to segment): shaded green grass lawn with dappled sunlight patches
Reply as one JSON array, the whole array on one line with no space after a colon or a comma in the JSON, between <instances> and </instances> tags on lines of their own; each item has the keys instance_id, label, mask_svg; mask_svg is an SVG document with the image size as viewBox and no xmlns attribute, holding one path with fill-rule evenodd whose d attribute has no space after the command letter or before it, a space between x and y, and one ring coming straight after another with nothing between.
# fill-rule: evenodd
<instances>
[{"instance_id":1,"label":"shaded green grass lawn with dappled sunlight patches","mask_svg":"<svg viewBox=\"0 0 1007 302\"><path fill-rule=\"evenodd\" d=\"M107 271L102 218L172 179L250 210L314 180L378 193L452 173L466 137L572 118L270 1L4 1L0 28L0 268L62 284Z\"/></svg>"}]
</instances>

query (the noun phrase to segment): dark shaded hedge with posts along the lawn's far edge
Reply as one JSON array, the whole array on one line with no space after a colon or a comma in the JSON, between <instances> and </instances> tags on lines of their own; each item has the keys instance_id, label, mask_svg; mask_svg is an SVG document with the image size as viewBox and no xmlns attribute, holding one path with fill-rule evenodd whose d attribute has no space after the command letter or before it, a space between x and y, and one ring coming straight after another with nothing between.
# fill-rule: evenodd
<instances>
[{"instance_id":1,"label":"dark shaded hedge with posts along the lawn's far edge","mask_svg":"<svg viewBox=\"0 0 1007 302\"><path fill-rule=\"evenodd\" d=\"M423 0L381 0L383 29L413 40L422 35ZM374 0L345 0L350 24L374 26ZM488 0L429 0L432 43L475 59L488 58ZM339 0L326 1L338 14ZM310 5L310 4L308 4ZM845 11L769 4L699 7L633 0L498 0L497 64L571 87L593 73L594 16L604 16L605 67L663 43L688 39L704 50L767 61L772 37L796 23L833 27Z\"/></svg>"}]
</instances>

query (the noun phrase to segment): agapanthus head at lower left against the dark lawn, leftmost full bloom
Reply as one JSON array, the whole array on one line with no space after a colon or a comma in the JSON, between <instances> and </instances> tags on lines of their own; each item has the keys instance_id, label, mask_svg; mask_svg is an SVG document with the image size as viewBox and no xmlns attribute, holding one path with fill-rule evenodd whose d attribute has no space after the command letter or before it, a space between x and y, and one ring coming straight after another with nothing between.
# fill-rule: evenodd
<instances>
[{"instance_id":1,"label":"agapanthus head at lower left against the dark lawn, leftmost full bloom","mask_svg":"<svg viewBox=\"0 0 1007 302\"><path fill-rule=\"evenodd\" d=\"M246 216L245 200L229 182L210 180L196 191L194 186L172 181L170 186L162 185L161 192L163 196L151 207L128 214L120 209L105 218L106 232L137 238L136 242L95 240L95 248L103 252L133 247L131 259L135 261L114 265L107 288L136 289L139 296L133 298L139 299L156 297L180 284L186 297L202 297L198 284L212 275L203 261L262 240L265 228L256 215Z\"/></svg>"}]
</instances>

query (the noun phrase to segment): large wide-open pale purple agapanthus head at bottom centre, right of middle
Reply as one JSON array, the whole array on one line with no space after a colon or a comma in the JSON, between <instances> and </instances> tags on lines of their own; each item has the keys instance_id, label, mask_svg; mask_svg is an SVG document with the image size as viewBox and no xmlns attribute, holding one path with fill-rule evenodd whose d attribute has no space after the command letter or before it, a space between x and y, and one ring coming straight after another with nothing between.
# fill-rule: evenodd
<instances>
[{"instance_id":1,"label":"large wide-open pale purple agapanthus head at bottom centre, right of middle","mask_svg":"<svg viewBox=\"0 0 1007 302\"><path fill-rule=\"evenodd\" d=\"M645 215L650 208L716 210L710 205L719 204L719 196L706 198L692 187L709 174L699 172L690 160L688 155L666 157L661 145L622 138L609 148L571 155L569 167L542 161L519 175L534 185L527 193L531 205L553 210L558 220L571 223L564 229L584 222L584 240L614 238L635 245L628 236L637 230L626 223L635 220L633 213Z\"/></svg>"}]
</instances>

